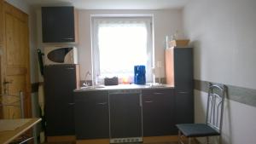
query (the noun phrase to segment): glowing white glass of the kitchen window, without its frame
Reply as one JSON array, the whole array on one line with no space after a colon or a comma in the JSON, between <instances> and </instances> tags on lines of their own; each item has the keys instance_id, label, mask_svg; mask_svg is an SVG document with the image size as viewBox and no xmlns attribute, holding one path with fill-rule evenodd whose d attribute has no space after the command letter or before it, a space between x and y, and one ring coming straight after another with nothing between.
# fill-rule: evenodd
<instances>
[{"instance_id":1,"label":"glowing white glass of the kitchen window, without its frame","mask_svg":"<svg viewBox=\"0 0 256 144\"><path fill-rule=\"evenodd\" d=\"M99 24L102 77L133 76L133 67L147 65L147 28L143 23Z\"/></svg>"}]
</instances>

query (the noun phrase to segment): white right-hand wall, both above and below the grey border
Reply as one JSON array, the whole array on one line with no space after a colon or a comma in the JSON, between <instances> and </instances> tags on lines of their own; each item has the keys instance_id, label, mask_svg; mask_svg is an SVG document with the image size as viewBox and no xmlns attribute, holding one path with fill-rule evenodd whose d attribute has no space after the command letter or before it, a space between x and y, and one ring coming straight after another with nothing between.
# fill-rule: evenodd
<instances>
[{"instance_id":1,"label":"white right-hand wall, both above and below the grey border","mask_svg":"<svg viewBox=\"0 0 256 144\"><path fill-rule=\"evenodd\" d=\"M256 89L256 1L191 0L183 9L185 34L195 49L195 79ZM195 122L206 96L195 90ZM255 143L256 108L227 101L224 143Z\"/></svg>"}]
</instances>

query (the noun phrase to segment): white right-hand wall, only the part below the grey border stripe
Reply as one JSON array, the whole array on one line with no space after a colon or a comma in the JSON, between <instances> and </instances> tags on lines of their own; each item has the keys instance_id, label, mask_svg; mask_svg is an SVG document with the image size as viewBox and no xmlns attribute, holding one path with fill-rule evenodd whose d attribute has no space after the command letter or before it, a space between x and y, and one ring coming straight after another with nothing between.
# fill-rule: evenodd
<instances>
[{"instance_id":1,"label":"white right-hand wall, only the part below the grey border stripe","mask_svg":"<svg viewBox=\"0 0 256 144\"><path fill-rule=\"evenodd\" d=\"M205 123L206 110L207 93L195 90L195 123ZM255 143L255 118L256 107L226 99L222 130L223 144ZM218 137L212 138L212 141L217 140Z\"/></svg>"}]
</instances>

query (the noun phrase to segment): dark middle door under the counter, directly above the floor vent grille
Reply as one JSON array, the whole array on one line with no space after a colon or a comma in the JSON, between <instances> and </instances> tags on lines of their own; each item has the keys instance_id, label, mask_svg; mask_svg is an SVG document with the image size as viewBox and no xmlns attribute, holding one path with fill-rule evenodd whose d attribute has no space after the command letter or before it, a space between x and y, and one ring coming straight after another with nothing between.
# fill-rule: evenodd
<instances>
[{"instance_id":1,"label":"dark middle door under the counter, directly above the floor vent grille","mask_svg":"<svg viewBox=\"0 0 256 144\"><path fill-rule=\"evenodd\" d=\"M140 94L109 94L111 138L141 137Z\"/></svg>"}]
</instances>

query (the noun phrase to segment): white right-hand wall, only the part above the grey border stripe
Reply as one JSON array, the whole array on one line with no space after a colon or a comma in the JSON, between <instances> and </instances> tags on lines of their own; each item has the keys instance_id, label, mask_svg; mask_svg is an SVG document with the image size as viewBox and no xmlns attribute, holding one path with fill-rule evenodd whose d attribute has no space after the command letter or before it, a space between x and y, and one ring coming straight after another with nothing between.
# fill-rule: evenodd
<instances>
[{"instance_id":1,"label":"white right-hand wall, only the part above the grey border stripe","mask_svg":"<svg viewBox=\"0 0 256 144\"><path fill-rule=\"evenodd\" d=\"M195 42L195 79L256 89L256 1L191 0L184 27Z\"/></svg>"}]
</instances>

